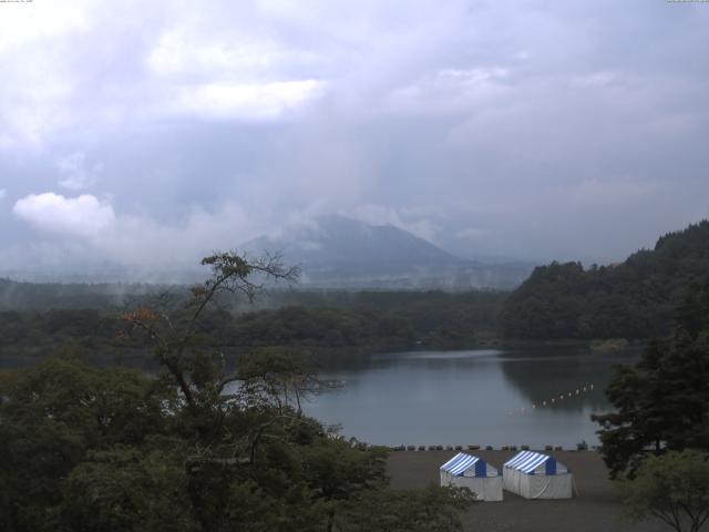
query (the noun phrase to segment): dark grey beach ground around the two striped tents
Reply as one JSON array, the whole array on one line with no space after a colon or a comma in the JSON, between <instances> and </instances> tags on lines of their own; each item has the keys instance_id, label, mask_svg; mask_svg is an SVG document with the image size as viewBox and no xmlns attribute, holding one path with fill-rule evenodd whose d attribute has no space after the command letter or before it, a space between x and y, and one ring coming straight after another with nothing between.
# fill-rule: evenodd
<instances>
[{"instance_id":1,"label":"dark grey beach ground around the two striped tents","mask_svg":"<svg viewBox=\"0 0 709 532\"><path fill-rule=\"evenodd\" d=\"M471 451L501 469L514 451ZM574 473L578 497L558 501L530 501L504 492L503 502L474 504L464 515L466 531L485 532L661 532L667 525L621 520L618 495L600 456L594 451L549 451ZM421 488L439 482L439 467L455 451L398 451L388 459L393 488Z\"/></svg>"}]
</instances>

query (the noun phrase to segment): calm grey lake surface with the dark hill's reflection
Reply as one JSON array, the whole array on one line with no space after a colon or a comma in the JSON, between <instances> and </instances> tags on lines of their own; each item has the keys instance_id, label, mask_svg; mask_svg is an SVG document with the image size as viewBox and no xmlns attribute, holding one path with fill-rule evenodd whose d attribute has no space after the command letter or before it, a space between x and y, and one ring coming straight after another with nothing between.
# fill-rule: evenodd
<instances>
[{"instance_id":1,"label":"calm grey lake surface with the dark hill's reflection","mask_svg":"<svg viewBox=\"0 0 709 532\"><path fill-rule=\"evenodd\" d=\"M613 366L637 357L569 348L380 355L327 372L345 387L306 408L372 443L595 444L589 416L609 408Z\"/></svg>"}]
</instances>

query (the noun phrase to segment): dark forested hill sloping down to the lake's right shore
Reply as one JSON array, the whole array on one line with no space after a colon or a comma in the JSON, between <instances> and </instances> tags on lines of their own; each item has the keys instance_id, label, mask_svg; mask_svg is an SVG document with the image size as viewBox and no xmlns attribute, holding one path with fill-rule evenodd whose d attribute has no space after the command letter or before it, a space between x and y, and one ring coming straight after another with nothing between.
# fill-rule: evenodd
<instances>
[{"instance_id":1,"label":"dark forested hill sloping down to the lake's right shore","mask_svg":"<svg viewBox=\"0 0 709 532\"><path fill-rule=\"evenodd\" d=\"M671 327L685 288L709 272L709 222L662 236L615 266L538 267L506 299L506 338L651 338Z\"/></svg>"}]
</instances>

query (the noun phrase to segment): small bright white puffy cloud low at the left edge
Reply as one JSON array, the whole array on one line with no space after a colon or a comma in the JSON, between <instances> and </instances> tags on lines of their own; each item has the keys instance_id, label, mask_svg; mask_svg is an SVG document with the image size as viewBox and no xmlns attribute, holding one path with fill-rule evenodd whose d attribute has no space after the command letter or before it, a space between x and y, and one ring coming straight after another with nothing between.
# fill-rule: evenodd
<instances>
[{"instance_id":1,"label":"small bright white puffy cloud low at the left edge","mask_svg":"<svg viewBox=\"0 0 709 532\"><path fill-rule=\"evenodd\" d=\"M115 222L113 207L91 194L30 194L18 200L12 212L37 229L69 236L95 236Z\"/></svg>"}]
</instances>

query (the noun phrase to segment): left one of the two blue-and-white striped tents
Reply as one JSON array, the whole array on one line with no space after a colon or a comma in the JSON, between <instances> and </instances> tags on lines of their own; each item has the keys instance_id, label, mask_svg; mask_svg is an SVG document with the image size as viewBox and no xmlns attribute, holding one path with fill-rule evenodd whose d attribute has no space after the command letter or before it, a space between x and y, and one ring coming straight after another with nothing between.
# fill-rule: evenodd
<instances>
[{"instance_id":1,"label":"left one of the two blue-and-white striped tents","mask_svg":"<svg viewBox=\"0 0 709 532\"><path fill-rule=\"evenodd\" d=\"M441 466L441 485L467 488L479 501L502 501L502 477L497 470L464 452Z\"/></svg>"}]
</instances>

